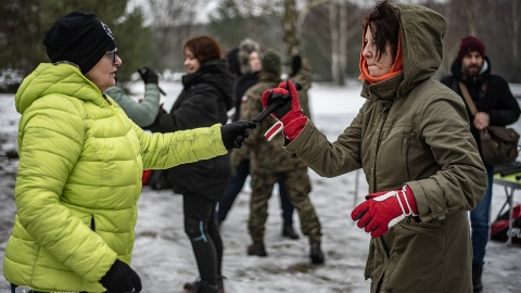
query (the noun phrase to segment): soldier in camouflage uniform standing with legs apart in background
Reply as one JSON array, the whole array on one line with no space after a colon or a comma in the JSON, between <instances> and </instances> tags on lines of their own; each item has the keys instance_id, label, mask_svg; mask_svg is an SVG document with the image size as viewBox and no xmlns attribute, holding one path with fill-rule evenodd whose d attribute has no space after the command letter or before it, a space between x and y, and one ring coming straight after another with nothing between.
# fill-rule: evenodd
<instances>
[{"instance_id":1,"label":"soldier in camouflage uniform standing with legs apart in background","mask_svg":"<svg viewBox=\"0 0 521 293\"><path fill-rule=\"evenodd\" d=\"M268 51L262 60L263 69L259 81L251 87L241 103L241 120L252 120L264 107L260 97L265 90L275 88L281 81L280 56ZM264 133L276 123L268 116L256 129L252 129L245 143L251 157L252 199L250 201L249 231L253 244L247 247L249 255L267 256L264 245L264 230L268 217L268 200L274 184L281 179L288 191L291 203L298 211L302 232L309 238L309 257L313 264L322 264L323 254L320 249L321 227L315 207L309 200L312 184L307 175L307 166L300 160L290 158L282 148L283 136L277 135L268 141Z\"/></svg>"}]
</instances>

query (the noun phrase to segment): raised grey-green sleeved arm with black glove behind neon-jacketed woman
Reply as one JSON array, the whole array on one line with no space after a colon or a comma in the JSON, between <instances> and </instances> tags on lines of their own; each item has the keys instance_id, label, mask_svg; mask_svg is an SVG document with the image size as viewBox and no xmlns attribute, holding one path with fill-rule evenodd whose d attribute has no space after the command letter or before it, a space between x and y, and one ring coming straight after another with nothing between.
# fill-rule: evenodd
<instances>
[{"instance_id":1,"label":"raised grey-green sleeved arm with black glove behind neon-jacketed woman","mask_svg":"<svg viewBox=\"0 0 521 293\"><path fill-rule=\"evenodd\" d=\"M105 94L110 95L125 111L127 116L139 127L144 128L154 123L160 112L160 76L153 69L143 67L142 80L144 81L144 97L136 102L118 86L110 87Z\"/></svg>"}]
</instances>

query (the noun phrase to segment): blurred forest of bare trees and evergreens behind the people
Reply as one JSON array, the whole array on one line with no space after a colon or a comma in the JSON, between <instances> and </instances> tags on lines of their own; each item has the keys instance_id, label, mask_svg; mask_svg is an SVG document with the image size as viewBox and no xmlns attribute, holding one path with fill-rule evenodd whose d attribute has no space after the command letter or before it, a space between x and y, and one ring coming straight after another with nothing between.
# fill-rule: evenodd
<instances>
[{"instance_id":1,"label":"blurred forest of bare trees and evergreens behind the people","mask_svg":"<svg viewBox=\"0 0 521 293\"><path fill-rule=\"evenodd\" d=\"M182 44L211 35L224 54L244 38L274 49L289 72L292 55L309 60L315 81L344 85L359 74L364 15L374 0L2 0L0 1L0 92L15 92L23 77L49 62L42 40L61 16L94 13L115 36L123 65L118 82L151 66L173 78L183 72ZM486 44L493 73L521 82L521 0L403 0L441 13L447 21L444 60L449 73L462 37Z\"/></svg>"}]
</instances>

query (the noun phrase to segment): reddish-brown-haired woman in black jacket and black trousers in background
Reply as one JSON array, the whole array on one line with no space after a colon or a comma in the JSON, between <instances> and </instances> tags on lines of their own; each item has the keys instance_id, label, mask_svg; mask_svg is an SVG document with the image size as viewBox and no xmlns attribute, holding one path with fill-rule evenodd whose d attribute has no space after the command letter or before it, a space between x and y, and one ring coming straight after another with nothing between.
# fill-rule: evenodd
<instances>
[{"instance_id":1,"label":"reddish-brown-haired woman in black jacket and black trousers in background","mask_svg":"<svg viewBox=\"0 0 521 293\"><path fill-rule=\"evenodd\" d=\"M226 124L232 107L233 77L220 59L219 44L209 36L189 39L183 46L183 89L169 113L158 114L152 131L174 132ZM185 231L192 244L200 280L185 292L223 292L223 241L216 225L217 202L225 193L229 156L186 164L167 170L174 192L183 195Z\"/></svg>"}]
</instances>

